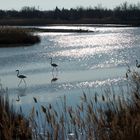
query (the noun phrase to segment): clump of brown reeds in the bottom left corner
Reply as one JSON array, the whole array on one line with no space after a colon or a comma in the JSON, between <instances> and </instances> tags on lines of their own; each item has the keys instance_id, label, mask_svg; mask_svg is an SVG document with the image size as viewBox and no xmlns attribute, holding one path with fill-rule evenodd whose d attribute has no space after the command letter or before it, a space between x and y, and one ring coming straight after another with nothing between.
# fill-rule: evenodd
<instances>
[{"instance_id":1,"label":"clump of brown reeds in the bottom left corner","mask_svg":"<svg viewBox=\"0 0 140 140\"><path fill-rule=\"evenodd\" d=\"M0 90L0 140L31 139L29 121L22 112L15 112L5 91L4 88Z\"/></svg>"}]
</instances>

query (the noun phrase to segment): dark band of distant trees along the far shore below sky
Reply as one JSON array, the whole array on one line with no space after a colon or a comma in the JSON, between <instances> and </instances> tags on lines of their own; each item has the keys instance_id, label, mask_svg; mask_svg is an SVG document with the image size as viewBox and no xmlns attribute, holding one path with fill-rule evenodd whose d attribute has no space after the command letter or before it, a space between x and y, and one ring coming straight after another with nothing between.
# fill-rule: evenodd
<instances>
[{"instance_id":1,"label":"dark band of distant trees along the far shore below sky","mask_svg":"<svg viewBox=\"0 0 140 140\"><path fill-rule=\"evenodd\" d=\"M46 24L46 23L115 23L140 25L140 3L127 2L114 9L103 8L71 8L42 11L35 7L23 7L20 11L0 10L0 24ZM20 19L20 20L19 20ZM21 20L22 19L22 20ZM37 20L40 19L40 20ZM17 20L17 22L15 22ZM30 20L33 20L32 22ZM25 21L25 22L24 22Z\"/></svg>"}]
</instances>

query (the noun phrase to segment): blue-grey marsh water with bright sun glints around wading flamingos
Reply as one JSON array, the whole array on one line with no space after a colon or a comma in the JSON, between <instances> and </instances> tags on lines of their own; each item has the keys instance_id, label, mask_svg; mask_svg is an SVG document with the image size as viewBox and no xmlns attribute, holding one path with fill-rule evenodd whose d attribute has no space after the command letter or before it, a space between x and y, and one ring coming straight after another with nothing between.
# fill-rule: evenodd
<instances>
[{"instance_id":1,"label":"blue-grey marsh water with bright sun glints around wading flamingos","mask_svg":"<svg viewBox=\"0 0 140 140\"><path fill-rule=\"evenodd\" d=\"M55 104L66 95L70 105L78 104L83 92L100 93L103 87L124 84L129 65L140 60L140 28L49 26L40 28L88 29L87 33L38 33L39 44L0 48L0 79L8 87L10 100L24 110L40 104ZM58 64L58 70L52 68ZM26 75L26 84L16 70ZM17 97L20 101L16 101Z\"/></svg>"}]
</instances>

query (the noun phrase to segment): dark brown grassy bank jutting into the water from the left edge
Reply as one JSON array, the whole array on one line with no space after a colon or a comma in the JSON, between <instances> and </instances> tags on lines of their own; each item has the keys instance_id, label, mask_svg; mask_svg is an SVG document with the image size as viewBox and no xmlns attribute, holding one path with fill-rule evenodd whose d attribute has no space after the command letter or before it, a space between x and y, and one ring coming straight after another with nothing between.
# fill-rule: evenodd
<instances>
[{"instance_id":1,"label":"dark brown grassy bank jutting into the water from the left edge","mask_svg":"<svg viewBox=\"0 0 140 140\"><path fill-rule=\"evenodd\" d=\"M40 38L26 29L0 27L0 47L30 45L38 42Z\"/></svg>"}]
</instances>

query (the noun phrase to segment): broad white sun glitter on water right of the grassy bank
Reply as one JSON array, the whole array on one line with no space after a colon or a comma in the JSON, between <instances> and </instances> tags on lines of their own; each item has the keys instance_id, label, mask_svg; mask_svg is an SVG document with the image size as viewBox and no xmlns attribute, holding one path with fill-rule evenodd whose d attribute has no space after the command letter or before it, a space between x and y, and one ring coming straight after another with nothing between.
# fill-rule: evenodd
<instances>
[{"instance_id":1,"label":"broad white sun glitter on water right of the grassy bank","mask_svg":"<svg viewBox=\"0 0 140 140\"><path fill-rule=\"evenodd\" d=\"M131 48L131 36L126 36L124 38L122 33L60 35L51 38L55 40L53 47L57 50L50 55L74 58L101 56L102 53L114 55L114 51Z\"/></svg>"}]
</instances>

